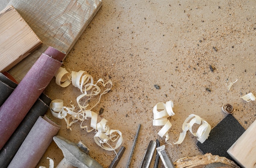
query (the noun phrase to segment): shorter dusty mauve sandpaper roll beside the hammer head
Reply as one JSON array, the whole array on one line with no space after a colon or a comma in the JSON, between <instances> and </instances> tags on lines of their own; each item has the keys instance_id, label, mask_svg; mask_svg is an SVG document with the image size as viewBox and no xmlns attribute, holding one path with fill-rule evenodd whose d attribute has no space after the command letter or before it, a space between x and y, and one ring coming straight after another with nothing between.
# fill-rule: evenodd
<instances>
[{"instance_id":1,"label":"shorter dusty mauve sandpaper roll beside the hammer head","mask_svg":"<svg viewBox=\"0 0 256 168\"><path fill-rule=\"evenodd\" d=\"M46 115L38 117L8 168L35 168L59 129Z\"/></svg>"}]
</instances>

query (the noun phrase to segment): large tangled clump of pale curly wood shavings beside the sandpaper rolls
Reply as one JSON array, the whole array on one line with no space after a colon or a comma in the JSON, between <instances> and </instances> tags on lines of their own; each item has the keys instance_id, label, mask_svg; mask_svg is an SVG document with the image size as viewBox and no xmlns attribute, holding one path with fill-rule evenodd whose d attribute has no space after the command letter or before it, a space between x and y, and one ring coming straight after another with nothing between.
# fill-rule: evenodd
<instances>
[{"instance_id":1,"label":"large tangled clump of pale curly wood shavings beside the sandpaper rolls","mask_svg":"<svg viewBox=\"0 0 256 168\"><path fill-rule=\"evenodd\" d=\"M119 148L123 141L122 133L119 130L110 130L109 126L106 125L106 119L102 119L101 122L97 123L98 114L91 111L92 108L99 104L101 96L108 93L112 88L111 80L104 83L103 79L99 79L94 84L92 76L87 74L85 71L72 71L71 74L68 75L67 71L62 68L59 69L58 73L56 74L56 81L58 81L56 83L59 84L59 86L66 86L67 84L64 83L69 81L67 83L72 83L73 86L79 88L82 94L76 98L78 108L73 104L70 104L71 107L64 106L63 100L61 99L53 100L50 104L52 115L59 119L64 119L67 124L67 129L71 130L72 124L80 121L80 127L82 129L85 129L87 132L95 130L96 134L94 136L94 141L105 150L115 151ZM61 82L64 83L61 84ZM99 85L106 88L102 93ZM92 96L95 95L99 95L99 100L94 106L92 106L92 108L88 109L88 102ZM84 98L85 102L82 103ZM91 119L90 126L85 124L85 121L88 120L88 118ZM112 147L109 141L116 143L115 147Z\"/></svg>"}]
</instances>

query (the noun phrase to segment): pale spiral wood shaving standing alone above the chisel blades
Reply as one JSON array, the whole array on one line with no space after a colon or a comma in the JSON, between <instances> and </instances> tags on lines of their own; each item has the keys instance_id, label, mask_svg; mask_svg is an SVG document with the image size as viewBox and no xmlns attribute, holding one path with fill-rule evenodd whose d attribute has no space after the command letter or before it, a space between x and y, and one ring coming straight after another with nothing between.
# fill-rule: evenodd
<instances>
[{"instance_id":1,"label":"pale spiral wood shaving standing alone above the chisel blades","mask_svg":"<svg viewBox=\"0 0 256 168\"><path fill-rule=\"evenodd\" d=\"M171 128L172 124L167 118L175 115L175 113L173 113L173 102L168 101L165 104L163 102L157 103L153 108L153 115L153 126L163 126L162 129L159 130L158 135L160 137L165 136L165 141L168 142L168 130Z\"/></svg>"}]
</instances>

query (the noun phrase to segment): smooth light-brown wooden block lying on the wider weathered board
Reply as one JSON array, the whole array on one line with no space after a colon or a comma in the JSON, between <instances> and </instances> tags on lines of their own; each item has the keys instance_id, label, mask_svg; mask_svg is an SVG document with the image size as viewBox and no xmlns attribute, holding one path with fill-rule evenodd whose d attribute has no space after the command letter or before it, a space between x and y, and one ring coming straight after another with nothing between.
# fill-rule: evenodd
<instances>
[{"instance_id":1,"label":"smooth light-brown wooden block lying on the wider weathered board","mask_svg":"<svg viewBox=\"0 0 256 168\"><path fill-rule=\"evenodd\" d=\"M42 42L11 5L0 12L0 25L0 72L3 72L18 64Z\"/></svg>"}]
</instances>

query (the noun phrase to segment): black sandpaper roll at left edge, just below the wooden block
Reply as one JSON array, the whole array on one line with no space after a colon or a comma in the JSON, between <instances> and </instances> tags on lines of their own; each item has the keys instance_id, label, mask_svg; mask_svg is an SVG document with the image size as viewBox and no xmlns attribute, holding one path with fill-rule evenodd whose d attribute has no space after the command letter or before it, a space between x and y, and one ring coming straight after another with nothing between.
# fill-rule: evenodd
<instances>
[{"instance_id":1,"label":"black sandpaper roll at left edge, just below the wooden block","mask_svg":"<svg viewBox=\"0 0 256 168\"><path fill-rule=\"evenodd\" d=\"M0 73L0 106L5 102L5 100L11 95L17 84L10 80L3 73Z\"/></svg>"}]
</instances>

